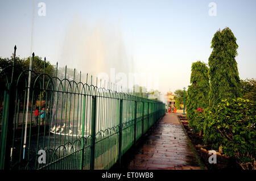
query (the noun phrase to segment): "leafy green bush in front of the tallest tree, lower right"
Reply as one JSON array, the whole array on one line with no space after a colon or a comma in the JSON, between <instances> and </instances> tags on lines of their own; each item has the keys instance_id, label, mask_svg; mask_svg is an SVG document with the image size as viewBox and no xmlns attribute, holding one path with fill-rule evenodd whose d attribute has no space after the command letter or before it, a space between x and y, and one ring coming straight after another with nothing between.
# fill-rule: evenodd
<instances>
[{"instance_id":1,"label":"leafy green bush in front of the tallest tree, lower right","mask_svg":"<svg viewBox=\"0 0 256 181\"><path fill-rule=\"evenodd\" d=\"M243 169L256 157L255 108L255 102L237 98L222 100L204 112L204 141L213 149L222 145L224 153L235 157Z\"/></svg>"}]
</instances>

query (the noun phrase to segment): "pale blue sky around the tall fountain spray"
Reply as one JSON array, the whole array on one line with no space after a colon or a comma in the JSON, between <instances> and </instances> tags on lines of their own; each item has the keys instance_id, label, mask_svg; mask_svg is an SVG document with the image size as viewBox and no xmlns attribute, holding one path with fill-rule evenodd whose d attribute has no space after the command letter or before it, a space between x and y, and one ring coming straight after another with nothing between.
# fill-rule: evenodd
<instances>
[{"instance_id":1,"label":"pale blue sky around the tall fountain spray","mask_svg":"<svg viewBox=\"0 0 256 181\"><path fill-rule=\"evenodd\" d=\"M46 3L46 16L38 16L39 2ZM209 16L210 2L216 3L217 16ZM1 57L10 57L15 44L20 57L30 55L32 5L31 0L0 1ZM121 36L127 61L133 58L135 62L133 71L158 73L159 90L165 93L189 85L192 62L207 63L214 33L229 27L239 46L236 60L240 78L256 78L255 9L256 1L234 0L40 0L35 1L32 51L46 56L52 64L61 62L72 22L79 19L78 24L91 31L102 23L101 31L106 29ZM83 30L77 33L80 31ZM72 43L72 47L79 46Z\"/></svg>"}]
</instances>

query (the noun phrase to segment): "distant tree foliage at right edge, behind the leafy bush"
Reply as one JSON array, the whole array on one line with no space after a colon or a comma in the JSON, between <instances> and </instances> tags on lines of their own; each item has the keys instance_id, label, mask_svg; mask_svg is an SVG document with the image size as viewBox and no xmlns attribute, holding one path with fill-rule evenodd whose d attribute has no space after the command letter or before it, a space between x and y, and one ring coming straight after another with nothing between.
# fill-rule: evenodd
<instances>
[{"instance_id":1,"label":"distant tree foliage at right edge, behind the leafy bush","mask_svg":"<svg viewBox=\"0 0 256 181\"><path fill-rule=\"evenodd\" d=\"M256 80L254 78L241 80L241 86L243 98L256 101Z\"/></svg>"}]
</instances>

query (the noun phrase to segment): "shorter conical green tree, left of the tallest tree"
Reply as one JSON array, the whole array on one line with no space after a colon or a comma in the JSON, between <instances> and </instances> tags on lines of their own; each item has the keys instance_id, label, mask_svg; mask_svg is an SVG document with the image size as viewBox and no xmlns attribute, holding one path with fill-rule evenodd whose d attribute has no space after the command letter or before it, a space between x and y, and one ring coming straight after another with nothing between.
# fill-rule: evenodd
<instances>
[{"instance_id":1,"label":"shorter conical green tree, left of the tallest tree","mask_svg":"<svg viewBox=\"0 0 256 181\"><path fill-rule=\"evenodd\" d=\"M204 62L197 61L191 68L191 86L188 86L187 117L192 120L197 108L209 106L209 75Z\"/></svg>"}]
</instances>

